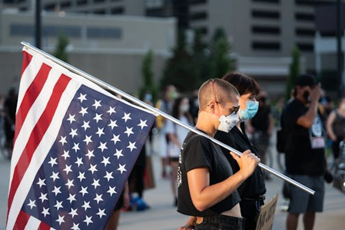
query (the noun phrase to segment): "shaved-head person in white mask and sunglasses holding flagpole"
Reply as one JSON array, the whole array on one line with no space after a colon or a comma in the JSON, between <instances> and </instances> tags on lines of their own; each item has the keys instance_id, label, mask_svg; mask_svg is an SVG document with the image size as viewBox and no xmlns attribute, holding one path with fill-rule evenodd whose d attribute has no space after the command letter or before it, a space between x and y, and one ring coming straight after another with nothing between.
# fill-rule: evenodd
<instances>
[{"instance_id":1,"label":"shaved-head person in white mask and sunglasses holding flagpole","mask_svg":"<svg viewBox=\"0 0 345 230\"><path fill-rule=\"evenodd\" d=\"M238 122L238 92L221 79L207 80L199 89L196 128L213 137L229 132ZM238 157L235 174L220 147L190 132L182 147L178 169L178 209L196 217L195 229L242 229L243 219L236 189L256 169L260 159L246 150Z\"/></svg>"}]
</instances>

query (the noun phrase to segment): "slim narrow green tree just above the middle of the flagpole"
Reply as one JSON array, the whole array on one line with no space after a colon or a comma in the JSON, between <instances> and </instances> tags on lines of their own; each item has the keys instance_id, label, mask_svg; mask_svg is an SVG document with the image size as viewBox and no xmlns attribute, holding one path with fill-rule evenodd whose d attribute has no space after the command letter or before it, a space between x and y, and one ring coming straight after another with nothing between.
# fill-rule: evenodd
<instances>
[{"instance_id":1,"label":"slim narrow green tree just above the middle of the flagpole","mask_svg":"<svg viewBox=\"0 0 345 230\"><path fill-rule=\"evenodd\" d=\"M142 60L141 73L143 77L144 86L141 87L139 97L143 98L145 93L152 94L152 102L156 103L158 99L158 88L154 80L153 65L153 52L149 50L144 59Z\"/></svg>"}]
</instances>

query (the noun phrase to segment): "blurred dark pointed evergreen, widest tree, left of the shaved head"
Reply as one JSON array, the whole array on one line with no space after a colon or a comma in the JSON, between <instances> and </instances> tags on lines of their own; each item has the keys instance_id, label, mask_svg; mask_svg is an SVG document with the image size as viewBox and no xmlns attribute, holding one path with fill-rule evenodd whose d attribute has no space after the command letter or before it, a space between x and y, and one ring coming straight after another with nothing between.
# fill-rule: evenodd
<instances>
[{"instance_id":1,"label":"blurred dark pointed evergreen, widest tree, left of the shaved head","mask_svg":"<svg viewBox=\"0 0 345 230\"><path fill-rule=\"evenodd\" d=\"M198 77L193 63L193 56L187 51L185 31L178 33L177 45L173 55L167 59L161 79L161 88L175 85L181 92L188 92L198 87Z\"/></svg>"}]
</instances>

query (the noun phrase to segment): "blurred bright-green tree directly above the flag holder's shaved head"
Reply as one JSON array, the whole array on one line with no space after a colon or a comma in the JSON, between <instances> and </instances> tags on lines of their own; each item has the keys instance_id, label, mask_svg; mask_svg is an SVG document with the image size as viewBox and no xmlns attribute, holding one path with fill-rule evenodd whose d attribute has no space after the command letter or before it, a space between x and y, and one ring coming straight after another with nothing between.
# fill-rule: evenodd
<instances>
[{"instance_id":1,"label":"blurred bright-green tree directly above the flag holder's shaved head","mask_svg":"<svg viewBox=\"0 0 345 230\"><path fill-rule=\"evenodd\" d=\"M210 77L220 78L235 69L235 60L229 57L231 46L223 29L217 28L211 41Z\"/></svg>"}]
</instances>

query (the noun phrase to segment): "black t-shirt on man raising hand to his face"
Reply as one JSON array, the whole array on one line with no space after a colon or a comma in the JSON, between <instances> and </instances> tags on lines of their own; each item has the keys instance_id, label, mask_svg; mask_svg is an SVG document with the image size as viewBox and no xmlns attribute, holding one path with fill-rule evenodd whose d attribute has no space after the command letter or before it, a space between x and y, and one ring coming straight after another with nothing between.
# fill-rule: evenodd
<instances>
[{"instance_id":1,"label":"black t-shirt on man raising hand to his face","mask_svg":"<svg viewBox=\"0 0 345 230\"><path fill-rule=\"evenodd\" d=\"M283 112L286 172L297 175L323 175L325 150L322 120L317 114L313 126L298 125L298 118L308 111L298 99L286 104Z\"/></svg>"}]
</instances>

